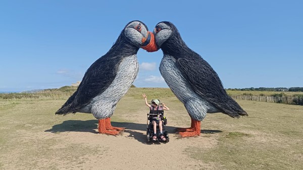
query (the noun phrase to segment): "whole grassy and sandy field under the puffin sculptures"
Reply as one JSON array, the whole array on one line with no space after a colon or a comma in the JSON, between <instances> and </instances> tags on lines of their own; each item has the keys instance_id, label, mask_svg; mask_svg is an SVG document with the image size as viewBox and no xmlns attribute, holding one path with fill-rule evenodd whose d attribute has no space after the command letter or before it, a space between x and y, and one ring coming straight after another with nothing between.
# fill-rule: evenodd
<instances>
[{"instance_id":1,"label":"whole grassy and sandy field under the puffin sculptures","mask_svg":"<svg viewBox=\"0 0 303 170\"><path fill-rule=\"evenodd\" d=\"M142 93L170 107L169 143L145 143L148 108ZM65 101L0 100L0 169L303 167L302 106L237 101L248 117L208 114L199 137L179 138L174 129L190 126L190 118L170 89L131 88L112 117L113 125L127 128L119 136L97 134L91 114L55 116Z\"/></svg>"}]
</instances>

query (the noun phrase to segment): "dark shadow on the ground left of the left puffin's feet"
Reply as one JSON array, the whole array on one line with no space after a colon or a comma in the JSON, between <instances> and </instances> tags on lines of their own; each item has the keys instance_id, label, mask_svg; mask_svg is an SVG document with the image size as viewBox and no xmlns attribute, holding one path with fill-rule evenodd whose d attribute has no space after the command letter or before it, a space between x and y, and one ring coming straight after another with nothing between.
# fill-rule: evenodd
<instances>
[{"instance_id":1,"label":"dark shadow on the ground left of the left puffin's feet","mask_svg":"<svg viewBox=\"0 0 303 170\"><path fill-rule=\"evenodd\" d=\"M67 120L61 124L54 125L51 129L44 132L91 132L98 133L95 129L98 128L98 120Z\"/></svg>"}]
</instances>

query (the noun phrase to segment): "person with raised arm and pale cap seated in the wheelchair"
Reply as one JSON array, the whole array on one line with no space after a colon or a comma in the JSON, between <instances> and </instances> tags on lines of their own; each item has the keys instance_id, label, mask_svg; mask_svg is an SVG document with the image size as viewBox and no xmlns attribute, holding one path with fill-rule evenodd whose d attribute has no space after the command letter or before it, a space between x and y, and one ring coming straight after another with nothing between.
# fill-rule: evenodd
<instances>
[{"instance_id":1,"label":"person with raised arm and pale cap seated in the wheelchair","mask_svg":"<svg viewBox=\"0 0 303 170\"><path fill-rule=\"evenodd\" d=\"M150 111L158 111L158 110L169 110L169 108L162 103L162 106L160 106L160 101L157 99L151 100L152 105L149 105L147 102L147 97L145 94L142 95L145 100L145 105L150 109ZM157 124L159 125L160 135L159 138L162 141L166 141L165 136L163 135L163 128L162 128L162 118L158 115L155 117L151 117L150 119L151 124L153 124L154 127L154 134L151 140L156 141L157 140Z\"/></svg>"}]
</instances>

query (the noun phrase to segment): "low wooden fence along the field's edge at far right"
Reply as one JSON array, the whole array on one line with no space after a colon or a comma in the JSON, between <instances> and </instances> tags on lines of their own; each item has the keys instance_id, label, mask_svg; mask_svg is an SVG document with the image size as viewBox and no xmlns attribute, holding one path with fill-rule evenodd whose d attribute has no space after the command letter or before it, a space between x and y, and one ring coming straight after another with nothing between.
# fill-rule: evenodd
<instances>
[{"instance_id":1,"label":"low wooden fence along the field's edge at far right","mask_svg":"<svg viewBox=\"0 0 303 170\"><path fill-rule=\"evenodd\" d=\"M302 105L303 98L283 96L283 97L272 97L272 96L231 96L236 100L248 100L248 101L259 101L259 102L270 102L270 103L284 103L291 105Z\"/></svg>"}]
</instances>

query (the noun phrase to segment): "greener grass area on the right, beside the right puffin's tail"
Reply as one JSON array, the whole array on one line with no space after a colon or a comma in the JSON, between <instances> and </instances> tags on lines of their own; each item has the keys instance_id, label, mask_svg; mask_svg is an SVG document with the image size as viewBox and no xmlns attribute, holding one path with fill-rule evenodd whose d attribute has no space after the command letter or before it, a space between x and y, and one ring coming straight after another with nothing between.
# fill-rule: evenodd
<instances>
[{"instance_id":1,"label":"greener grass area on the right, beside the right puffin's tail","mask_svg":"<svg viewBox=\"0 0 303 170\"><path fill-rule=\"evenodd\" d=\"M185 152L194 159L215 163L219 169L300 169L303 107L238 102L247 111L247 118L232 122L214 115L212 121L207 120L206 124L220 120L221 129L226 130L218 136L216 148L188 147Z\"/></svg>"}]
</instances>

